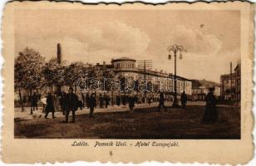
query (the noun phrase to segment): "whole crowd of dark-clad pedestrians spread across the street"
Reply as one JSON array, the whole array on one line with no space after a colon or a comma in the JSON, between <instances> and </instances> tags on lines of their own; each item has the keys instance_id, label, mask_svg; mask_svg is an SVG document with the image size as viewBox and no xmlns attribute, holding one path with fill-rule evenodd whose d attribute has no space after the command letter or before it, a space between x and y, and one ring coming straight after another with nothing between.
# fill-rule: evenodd
<instances>
[{"instance_id":1,"label":"whole crowd of dark-clad pedestrians spread across the street","mask_svg":"<svg viewBox=\"0 0 256 166\"><path fill-rule=\"evenodd\" d=\"M87 108L90 110L89 117L94 117L94 110L96 108L102 109L107 108L109 105L129 105L129 111L133 112L135 104L140 105L141 103L147 103L151 105L154 102L158 102L158 111L160 112L161 108L164 108L167 111L165 106L165 101L173 101L173 98L165 95L164 92L158 93L158 96L155 95L143 95L138 96L132 93L126 95L116 95L115 100L110 95L106 93L96 92L87 92L86 94L81 93L81 95L76 95L74 89L70 87L68 92L60 90L59 92L52 93L49 91L46 96L38 95L37 92L34 92L31 96L31 107L32 110L37 110L38 103L42 104L42 111L45 113L44 118L48 119L49 113L52 113L52 119L55 119L55 111L61 110L62 114L65 115L66 119L63 123L75 123L76 120L76 110L82 110ZM186 108L188 97L185 94L185 91L180 95L180 103L182 108ZM218 120L218 111L216 109L217 100L214 96L214 88L209 88L209 93L205 96L205 109L204 117L202 118L202 123L214 123ZM69 115L71 114L71 121L68 120Z\"/></svg>"}]
</instances>

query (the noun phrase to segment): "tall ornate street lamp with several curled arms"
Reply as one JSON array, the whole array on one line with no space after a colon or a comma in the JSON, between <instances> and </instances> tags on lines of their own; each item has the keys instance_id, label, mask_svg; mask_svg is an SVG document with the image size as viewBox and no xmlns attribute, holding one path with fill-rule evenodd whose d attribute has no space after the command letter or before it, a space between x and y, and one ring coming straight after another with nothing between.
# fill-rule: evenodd
<instances>
[{"instance_id":1,"label":"tall ornate street lamp with several curled arms","mask_svg":"<svg viewBox=\"0 0 256 166\"><path fill-rule=\"evenodd\" d=\"M175 56L175 99L174 99L174 102L173 102L173 107L179 107L179 101L177 99L177 75L176 75L176 56L177 56L177 53L180 53L180 60L182 59L182 51L185 51L184 50L184 47L183 46L178 46L178 45L172 45L172 46L168 46L167 48L167 51L169 51L169 55L168 55L168 60L171 60L171 56L173 53L173 56Z\"/></svg>"}]
</instances>

